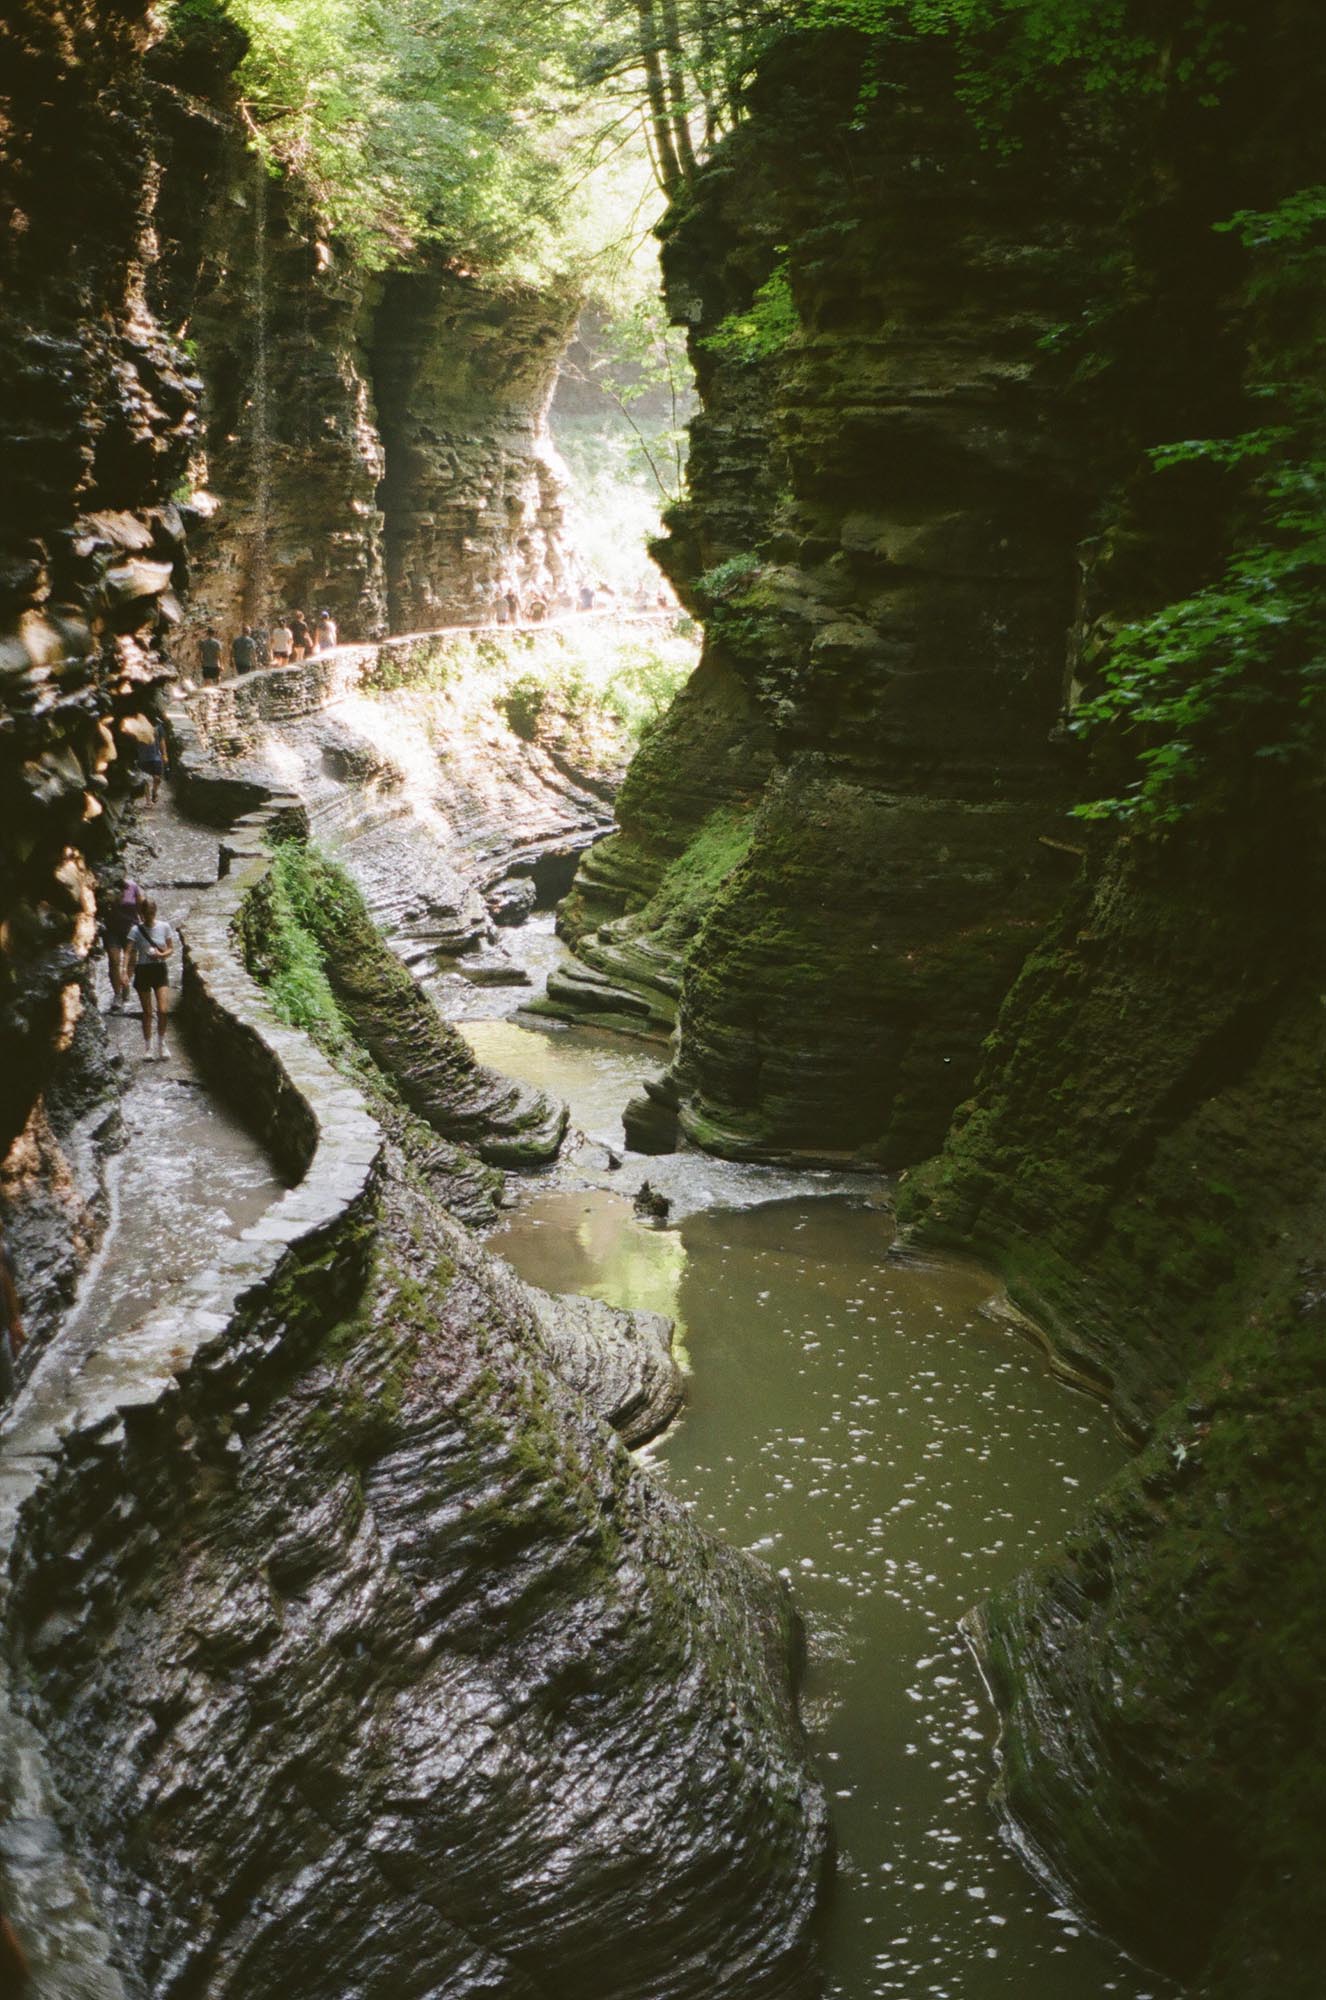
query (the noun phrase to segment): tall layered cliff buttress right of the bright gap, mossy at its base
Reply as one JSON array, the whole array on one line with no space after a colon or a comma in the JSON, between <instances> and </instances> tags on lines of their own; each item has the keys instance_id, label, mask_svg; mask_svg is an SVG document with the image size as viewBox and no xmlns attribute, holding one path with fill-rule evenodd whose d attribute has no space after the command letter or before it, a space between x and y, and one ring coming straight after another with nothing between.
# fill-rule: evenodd
<instances>
[{"instance_id":1,"label":"tall layered cliff buttress right of the bright gap, mossy at its base","mask_svg":"<svg viewBox=\"0 0 1326 2000\"><path fill-rule=\"evenodd\" d=\"M942 48L890 64L856 116L860 44L776 54L664 244L706 408L662 560L706 660L570 922L590 976L648 988L660 948L654 984L680 974L674 1096L720 1152L930 1150L1064 884L1050 738L1100 468L1038 342L1104 222L1068 132L992 164ZM716 350L770 272L790 346ZM684 852L708 880L676 922Z\"/></svg>"}]
</instances>

